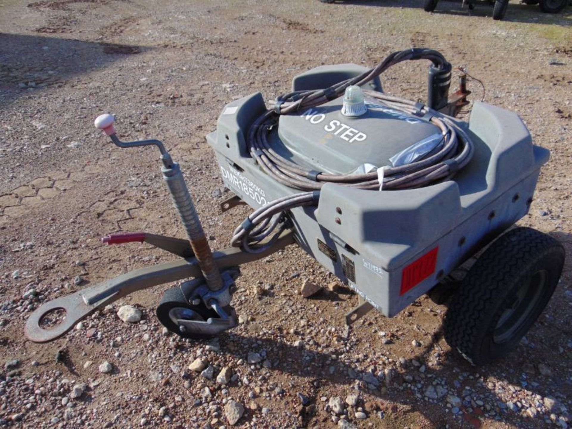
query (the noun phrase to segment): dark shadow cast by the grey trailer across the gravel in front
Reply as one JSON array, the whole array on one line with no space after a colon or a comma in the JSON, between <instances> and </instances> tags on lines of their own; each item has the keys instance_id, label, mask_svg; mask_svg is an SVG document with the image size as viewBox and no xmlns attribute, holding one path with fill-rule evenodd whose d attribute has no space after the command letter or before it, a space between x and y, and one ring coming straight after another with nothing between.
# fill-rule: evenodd
<instances>
[{"instance_id":1,"label":"dark shadow cast by the grey trailer across the gravel in front","mask_svg":"<svg viewBox=\"0 0 572 429\"><path fill-rule=\"evenodd\" d=\"M553 232L551 235L562 242L567 254L572 254L572 235L563 232ZM348 387L359 384L360 391L369 392L379 401L369 405L360 402L358 407L369 407L367 412L370 415L381 412L381 417L387 418L387 424L390 424L393 413L403 416L417 412L430 420L434 427L450 424L451 418L446 416L451 413L458 415L462 422L456 420L459 427L479 428L492 420L512 423L516 427L538 427L535 425L545 423L542 416L531 418L527 414L528 407L536 406L534 403L519 404L520 408L517 408L515 404L506 402L503 396L507 396L509 392L506 389L509 388L513 392L521 389L530 391L531 394L527 396L538 395L536 397L541 403L542 398L555 398L553 410L559 415L558 407L566 405L566 398L572 394L572 383L566 378L566 368L572 358L569 345L572 344L572 328L568 328L569 316L562 318L563 314L567 314L567 300L563 295L572 290L568 274L571 264L572 258L567 259L553 298L521 344L506 358L486 366L472 366L455 352L444 351L441 347L443 330L439 327L432 333L430 341L413 349L416 351L414 355L410 354L396 362L396 370L384 372L389 365L380 360L379 350L374 349L371 354L360 356L359 364L367 370L357 370L353 362L342 360L341 355L351 355L352 349L363 341L360 331L370 326L366 319L361 324L353 325L346 338L338 334L337 346L327 351L298 348L280 338L281 335L268 339L229 332L225 342L256 345L256 350L267 351L270 371L308 379L307 385L310 387L299 392L309 399L305 406L300 404L298 408L303 420L302 427L310 423L321 427L320 424L325 425L330 421L329 413L322 411L327 402L322 402L318 394L319 387L328 384ZM317 299L323 298L317 296ZM284 329L279 331L282 334ZM245 358L245 348L242 347L232 347L232 350L225 347L225 352L237 359ZM542 369L541 364L545 366ZM543 373L546 367L553 368L553 373ZM349 388L347 391L352 394ZM353 394L357 395L359 391ZM474 396L476 398L472 399ZM446 404L451 402L455 404L448 408L448 413L444 413ZM491 415L491 410L495 414Z\"/></svg>"}]
</instances>

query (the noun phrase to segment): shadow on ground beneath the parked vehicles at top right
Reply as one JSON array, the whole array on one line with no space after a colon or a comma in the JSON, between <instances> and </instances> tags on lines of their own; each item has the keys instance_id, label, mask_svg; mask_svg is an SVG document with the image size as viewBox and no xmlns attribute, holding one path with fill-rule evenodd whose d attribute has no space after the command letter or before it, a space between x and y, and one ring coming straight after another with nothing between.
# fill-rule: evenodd
<instances>
[{"instance_id":1,"label":"shadow on ground beneath the parked vehicles at top right","mask_svg":"<svg viewBox=\"0 0 572 429\"><path fill-rule=\"evenodd\" d=\"M379 6L379 7L404 7L411 9L423 9L423 1L407 1L407 0L336 0L337 5L355 5L355 6ZM434 14L440 15L461 15L475 17L491 17L492 5L486 3L478 3L474 9L469 10L467 6L462 7L459 1L439 1ZM522 22L534 24L559 25L563 27L572 26L572 7L567 6L558 14L542 13L538 5L524 5L519 2L509 2L509 8L506 11L503 21ZM492 19L492 18L491 18Z\"/></svg>"}]
</instances>

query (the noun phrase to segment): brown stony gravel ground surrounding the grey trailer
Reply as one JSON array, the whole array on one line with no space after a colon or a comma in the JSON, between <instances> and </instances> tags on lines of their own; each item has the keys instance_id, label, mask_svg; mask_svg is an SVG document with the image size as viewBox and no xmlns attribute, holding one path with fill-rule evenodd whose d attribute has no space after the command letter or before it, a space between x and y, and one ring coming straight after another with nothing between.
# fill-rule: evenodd
<instances>
[{"instance_id":1,"label":"brown stony gravel ground surrounding the grey trailer","mask_svg":"<svg viewBox=\"0 0 572 429\"><path fill-rule=\"evenodd\" d=\"M511 2L496 22L487 6L469 15L440 2L428 14L420 3L0 2L0 426L572 424L569 262L517 350L480 368L452 353L441 331L446 307L426 297L348 330L343 315L357 296L329 290L335 278L293 246L243 268L240 326L215 341L181 340L158 323L154 308L173 285L132 294L55 342L23 338L43 301L173 259L146 245L107 247L101 236L184 236L155 151L118 149L93 129L94 117L109 111L121 137L165 142L210 243L224 248L249 212L218 209L228 193L204 135L225 103L259 90L273 98L312 67L372 66L409 46L468 65L485 101L516 111L552 151L519 224L557 237L570 254L570 8L545 15ZM382 79L391 93L417 98L426 65L402 64ZM324 290L303 298L305 280Z\"/></svg>"}]
</instances>

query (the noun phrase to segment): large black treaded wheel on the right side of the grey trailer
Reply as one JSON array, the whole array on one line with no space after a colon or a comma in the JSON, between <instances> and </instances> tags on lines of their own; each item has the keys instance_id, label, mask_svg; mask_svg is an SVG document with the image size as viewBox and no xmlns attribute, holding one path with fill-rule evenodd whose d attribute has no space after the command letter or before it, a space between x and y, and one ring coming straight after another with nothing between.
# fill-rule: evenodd
<instances>
[{"instance_id":1,"label":"large black treaded wheel on the right side of the grey trailer","mask_svg":"<svg viewBox=\"0 0 572 429\"><path fill-rule=\"evenodd\" d=\"M514 228L487 248L451 299L447 343L475 365L518 345L550 300L564 265L562 244L532 228Z\"/></svg>"}]
</instances>

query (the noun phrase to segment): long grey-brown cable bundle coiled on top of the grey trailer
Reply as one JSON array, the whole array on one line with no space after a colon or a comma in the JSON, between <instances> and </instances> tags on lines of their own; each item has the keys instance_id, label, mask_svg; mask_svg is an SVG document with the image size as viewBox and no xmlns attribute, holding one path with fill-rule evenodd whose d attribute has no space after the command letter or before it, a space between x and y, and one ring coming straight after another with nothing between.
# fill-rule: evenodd
<instances>
[{"instance_id":1,"label":"long grey-brown cable bundle coiled on top of the grey trailer","mask_svg":"<svg viewBox=\"0 0 572 429\"><path fill-rule=\"evenodd\" d=\"M297 113L310 107L322 105L341 97L350 85L362 86L378 77L392 65L416 59L428 59L439 69L443 69L447 65L446 59L438 51L412 48L392 53L374 68L352 79L336 83L327 89L295 91L277 97L276 101L272 103L272 109L262 114L250 127L247 136L248 149L266 174L285 186L305 192L279 198L249 215L236 228L235 235L231 240L233 246L240 246L248 252L264 251L275 242L280 232L286 228L286 211L295 207L317 205L319 190L324 183L337 183L343 186L371 190L414 189L447 181L467 165L473 155L473 145L464 130L451 121L449 117L428 106L420 105L418 102L371 90L364 90L363 92L368 97L379 100L391 109L415 115L437 126L443 135L440 149L436 152L432 151L411 163L384 167L383 182L379 183L377 171L364 174L330 174L306 170L304 167L281 157L268 142L268 135L272 129L275 129L280 115ZM272 232L274 232L272 238L262 244L263 240Z\"/></svg>"}]
</instances>

